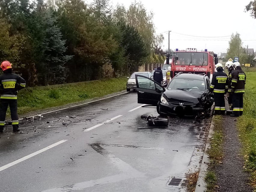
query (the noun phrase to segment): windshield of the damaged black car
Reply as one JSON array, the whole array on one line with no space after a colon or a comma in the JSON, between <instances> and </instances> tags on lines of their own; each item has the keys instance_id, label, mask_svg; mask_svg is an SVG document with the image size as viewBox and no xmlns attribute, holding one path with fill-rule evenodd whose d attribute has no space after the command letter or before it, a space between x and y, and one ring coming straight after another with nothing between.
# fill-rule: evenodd
<instances>
[{"instance_id":1,"label":"windshield of the damaged black car","mask_svg":"<svg viewBox=\"0 0 256 192\"><path fill-rule=\"evenodd\" d=\"M167 87L168 90L205 90L205 81L197 79L173 78Z\"/></svg>"}]
</instances>

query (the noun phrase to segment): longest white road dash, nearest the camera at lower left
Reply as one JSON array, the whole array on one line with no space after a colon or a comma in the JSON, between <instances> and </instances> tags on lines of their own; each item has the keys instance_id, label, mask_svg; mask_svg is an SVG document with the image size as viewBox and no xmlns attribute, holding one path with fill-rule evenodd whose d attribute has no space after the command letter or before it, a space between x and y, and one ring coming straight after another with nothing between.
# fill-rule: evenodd
<instances>
[{"instance_id":1,"label":"longest white road dash, nearest the camera at lower left","mask_svg":"<svg viewBox=\"0 0 256 192\"><path fill-rule=\"evenodd\" d=\"M49 145L48 147L45 147L45 148L43 148L43 149L41 149L41 150L39 150L39 151L36 151L36 152L34 152L34 153L32 153L32 154L29 154L29 155L27 155L27 156L25 156L25 157L22 157L22 158L20 158L20 159L17 159L17 160L15 160L15 161L11 162L11 163L8 163L7 165L4 165L4 166L0 167L0 171L3 171L3 170L5 170L5 169L7 169L7 168L9 168L9 167L11 167L11 166L14 166L14 165L16 165L16 164L18 164L18 163L20 163L20 162L22 162L22 161L25 161L25 160L27 160L27 159L29 159L29 158L35 156L35 155L38 155L38 154L40 154L40 153L42 153L42 152L44 152L44 151L47 151L47 150L50 149L50 148L56 147L57 145L62 144L62 143L64 143L64 142L66 142L66 141L68 141L68 140L63 139L63 140L61 140L61 141L59 141L59 142L56 142L56 143L54 143L54 144L52 144L52 145Z\"/></svg>"}]
</instances>

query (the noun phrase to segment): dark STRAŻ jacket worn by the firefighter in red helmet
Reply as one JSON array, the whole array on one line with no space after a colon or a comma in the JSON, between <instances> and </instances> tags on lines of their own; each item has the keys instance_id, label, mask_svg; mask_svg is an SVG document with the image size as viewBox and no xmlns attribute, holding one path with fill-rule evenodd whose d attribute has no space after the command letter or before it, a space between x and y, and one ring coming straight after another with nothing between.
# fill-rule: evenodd
<instances>
[{"instance_id":1,"label":"dark STRA\u017b jacket worn by the firefighter in red helmet","mask_svg":"<svg viewBox=\"0 0 256 192\"><path fill-rule=\"evenodd\" d=\"M26 87L26 81L14 73L0 75L0 99L17 99L18 90Z\"/></svg>"}]
</instances>

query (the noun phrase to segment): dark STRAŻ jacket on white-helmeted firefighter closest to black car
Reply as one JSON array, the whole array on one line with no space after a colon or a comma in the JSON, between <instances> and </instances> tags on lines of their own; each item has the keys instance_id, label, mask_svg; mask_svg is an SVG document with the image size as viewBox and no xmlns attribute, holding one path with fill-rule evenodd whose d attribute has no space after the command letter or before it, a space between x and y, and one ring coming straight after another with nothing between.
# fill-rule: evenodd
<instances>
[{"instance_id":1,"label":"dark STRA\u017b jacket on white-helmeted firefighter closest to black car","mask_svg":"<svg viewBox=\"0 0 256 192\"><path fill-rule=\"evenodd\" d=\"M228 90L227 74L224 73L223 71L215 72L212 75L210 92L227 93L227 90Z\"/></svg>"}]
</instances>

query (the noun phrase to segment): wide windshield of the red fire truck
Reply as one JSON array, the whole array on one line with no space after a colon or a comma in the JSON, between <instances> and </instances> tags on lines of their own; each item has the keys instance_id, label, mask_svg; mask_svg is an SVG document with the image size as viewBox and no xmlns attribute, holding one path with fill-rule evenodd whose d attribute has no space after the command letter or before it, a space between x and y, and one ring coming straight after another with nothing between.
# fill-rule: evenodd
<instances>
[{"instance_id":1,"label":"wide windshield of the red fire truck","mask_svg":"<svg viewBox=\"0 0 256 192\"><path fill-rule=\"evenodd\" d=\"M176 60L175 65L208 65L207 53L181 52L177 53L177 57L178 60Z\"/></svg>"}]
</instances>

